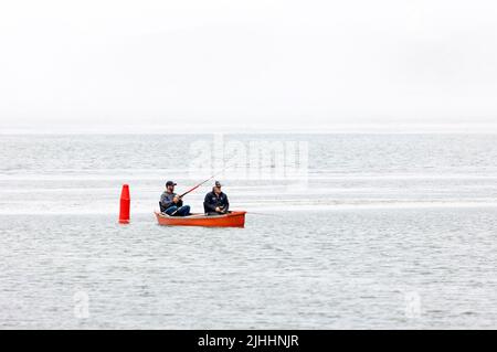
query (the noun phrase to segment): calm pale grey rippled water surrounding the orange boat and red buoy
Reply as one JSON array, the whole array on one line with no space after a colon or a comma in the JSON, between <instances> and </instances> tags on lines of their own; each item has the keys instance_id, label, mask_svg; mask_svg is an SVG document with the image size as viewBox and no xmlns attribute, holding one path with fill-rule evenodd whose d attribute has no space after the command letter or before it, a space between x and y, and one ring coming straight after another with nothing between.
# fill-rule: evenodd
<instances>
[{"instance_id":1,"label":"calm pale grey rippled water surrounding the orange boat and red buoy","mask_svg":"<svg viewBox=\"0 0 497 352\"><path fill-rule=\"evenodd\" d=\"M0 328L497 328L497 136L223 138L307 142L306 182L225 172L245 228L161 227L212 136L0 136Z\"/></svg>"}]
</instances>

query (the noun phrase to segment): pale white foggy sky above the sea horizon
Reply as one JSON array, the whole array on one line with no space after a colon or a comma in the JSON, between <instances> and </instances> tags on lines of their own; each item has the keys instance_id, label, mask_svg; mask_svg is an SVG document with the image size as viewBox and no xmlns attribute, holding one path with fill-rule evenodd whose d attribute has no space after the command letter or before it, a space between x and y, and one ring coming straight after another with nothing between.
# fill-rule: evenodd
<instances>
[{"instance_id":1,"label":"pale white foggy sky above the sea horizon","mask_svg":"<svg viewBox=\"0 0 497 352\"><path fill-rule=\"evenodd\" d=\"M497 122L497 2L2 1L0 126Z\"/></svg>"}]
</instances>

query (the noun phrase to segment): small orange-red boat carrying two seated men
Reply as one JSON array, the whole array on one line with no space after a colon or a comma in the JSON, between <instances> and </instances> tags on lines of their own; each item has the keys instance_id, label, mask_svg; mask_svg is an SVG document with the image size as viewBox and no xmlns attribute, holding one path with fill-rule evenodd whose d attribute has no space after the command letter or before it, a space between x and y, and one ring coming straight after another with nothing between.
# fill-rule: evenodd
<instances>
[{"instance_id":1,"label":"small orange-red boat carrying two seated men","mask_svg":"<svg viewBox=\"0 0 497 352\"><path fill-rule=\"evenodd\" d=\"M155 212L159 225L167 226L208 226L208 227L243 227L246 212L230 212L221 215L191 214L188 216L170 216Z\"/></svg>"}]
</instances>

